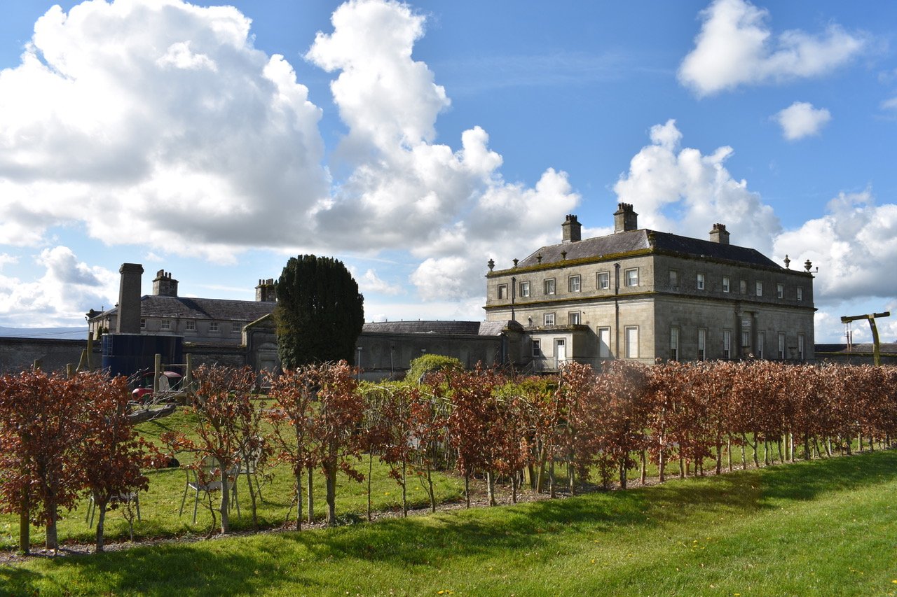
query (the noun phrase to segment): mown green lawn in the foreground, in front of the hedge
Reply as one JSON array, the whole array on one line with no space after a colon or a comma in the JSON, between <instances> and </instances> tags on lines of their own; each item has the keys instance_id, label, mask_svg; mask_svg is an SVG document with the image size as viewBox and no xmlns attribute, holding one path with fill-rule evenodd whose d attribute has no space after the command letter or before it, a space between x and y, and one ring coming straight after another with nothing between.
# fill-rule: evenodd
<instances>
[{"instance_id":1,"label":"mown green lawn in the foreground, in front of the hedge","mask_svg":"<svg viewBox=\"0 0 897 597\"><path fill-rule=\"evenodd\" d=\"M897 453L0 567L7 593L890 595ZM440 593L441 592L441 593Z\"/></svg>"}]
</instances>

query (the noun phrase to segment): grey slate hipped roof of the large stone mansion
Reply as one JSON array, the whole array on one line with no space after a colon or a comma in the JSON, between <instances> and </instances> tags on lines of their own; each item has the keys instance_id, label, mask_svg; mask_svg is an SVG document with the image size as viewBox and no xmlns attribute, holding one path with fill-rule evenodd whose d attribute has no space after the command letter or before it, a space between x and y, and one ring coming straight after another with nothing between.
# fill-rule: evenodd
<instances>
[{"instance_id":1,"label":"grey slate hipped roof of the large stone mansion","mask_svg":"<svg viewBox=\"0 0 897 597\"><path fill-rule=\"evenodd\" d=\"M656 251L700 256L709 259L724 259L743 264L762 265L764 267L781 267L769 257L753 248L726 245L699 238L681 237L677 234L649 229L616 232L605 237L586 238L576 242L541 247L532 255L519 262L518 267L553 264L565 259L570 261L604 255L621 255L649 249L652 247L652 242ZM562 252L566 252L566 256L561 255ZM541 262L537 255L542 256Z\"/></svg>"}]
</instances>

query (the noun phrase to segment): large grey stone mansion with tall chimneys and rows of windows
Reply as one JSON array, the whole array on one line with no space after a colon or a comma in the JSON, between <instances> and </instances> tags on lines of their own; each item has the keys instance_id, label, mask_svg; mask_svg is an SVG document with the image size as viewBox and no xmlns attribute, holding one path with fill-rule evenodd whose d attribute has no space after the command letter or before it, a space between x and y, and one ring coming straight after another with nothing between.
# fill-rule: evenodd
<instances>
[{"instance_id":1,"label":"large grey stone mansion with tall chimneys and rows of windows","mask_svg":"<svg viewBox=\"0 0 897 597\"><path fill-rule=\"evenodd\" d=\"M512 360L814 359L809 262L791 270L732 245L723 224L706 240L639 229L618 207L613 234L582 239L569 215L557 245L506 270L490 261L486 318L523 329Z\"/></svg>"}]
</instances>

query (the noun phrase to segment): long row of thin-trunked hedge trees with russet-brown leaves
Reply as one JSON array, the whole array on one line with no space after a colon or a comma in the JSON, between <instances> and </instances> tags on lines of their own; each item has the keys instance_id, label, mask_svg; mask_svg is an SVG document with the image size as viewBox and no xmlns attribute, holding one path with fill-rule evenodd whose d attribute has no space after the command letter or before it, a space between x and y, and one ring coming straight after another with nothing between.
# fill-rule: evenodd
<instances>
[{"instance_id":1,"label":"long row of thin-trunked hedge trees with russet-brown leaves","mask_svg":"<svg viewBox=\"0 0 897 597\"><path fill-rule=\"evenodd\" d=\"M508 483L515 501L523 484L554 494L556 479L570 492L614 478L625 489L630 472L640 469L643 478L649 463L664 480L671 470L687 476L705 466L721 472L873 450L897 434L897 368L614 361L600 370L571 363L553 377L477 368L431 374L422 384L378 385L360 384L355 373L344 362L287 370L259 396L248 368L199 368L188 407L195 426L162 439L184 466L215 475L225 488L234 472L287 464L300 528L306 514L314 517L315 472L326 480L333 523L336 475L368 480L370 504L375 458L401 486L406 512L409 480L422 482L435 509L435 471L465 480L468 505L470 480L483 478L494 504L497 480ZM55 544L57 508L86 493L102 513L114 497L145 487L140 467L150 456L165 459L136 437L124 403L122 380L97 374L0 379L4 510L20 513L24 527L29 518L46 524L48 544ZM218 467L201 468L203 457ZM251 478L249 489L255 520ZM228 493L217 508L222 532L229 529Z\"/></svg>"}]
</instances>

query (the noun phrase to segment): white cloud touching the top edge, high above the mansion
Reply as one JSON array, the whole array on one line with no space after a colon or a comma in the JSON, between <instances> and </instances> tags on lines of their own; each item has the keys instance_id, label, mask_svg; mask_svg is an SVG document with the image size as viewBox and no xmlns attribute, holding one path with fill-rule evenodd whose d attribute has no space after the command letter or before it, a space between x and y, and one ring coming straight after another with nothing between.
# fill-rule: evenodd
<instances>
[{"instance_id":1,"label":"white cloud touching the top edge, high above the mansion","mask_svg":"<svg viewBox=\"0 0 897 597\"><path fill-rule=\"evenodd\" d=\"M679 81L699 96L828 74L867 47L866 35L837 24L815 35L787 30L774 36L769 11L746 0L715 0L701 20L694 49L679 67Z\"/></svg>"}]
</instances>

